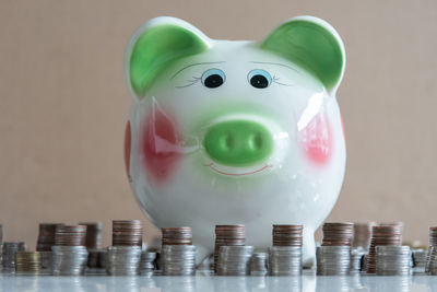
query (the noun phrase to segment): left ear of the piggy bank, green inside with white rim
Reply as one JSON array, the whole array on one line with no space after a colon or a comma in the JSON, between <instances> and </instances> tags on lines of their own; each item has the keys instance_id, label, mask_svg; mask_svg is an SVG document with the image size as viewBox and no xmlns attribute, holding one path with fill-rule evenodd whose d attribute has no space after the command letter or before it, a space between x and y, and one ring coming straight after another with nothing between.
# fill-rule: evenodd
<instances>
[{"instance_id":1,"label":"left ear of the piggy bank, green inside with white rim","mask_svg":"<svg viewBox=\"0 0 437 292\"><path fill-rule=\"evenodd\" d=\"M141 98L160 73L175 61L208 49L208 37L191 24L156 17L133 34L125 56L127 81Z\"/></svg>"}]
</instances>

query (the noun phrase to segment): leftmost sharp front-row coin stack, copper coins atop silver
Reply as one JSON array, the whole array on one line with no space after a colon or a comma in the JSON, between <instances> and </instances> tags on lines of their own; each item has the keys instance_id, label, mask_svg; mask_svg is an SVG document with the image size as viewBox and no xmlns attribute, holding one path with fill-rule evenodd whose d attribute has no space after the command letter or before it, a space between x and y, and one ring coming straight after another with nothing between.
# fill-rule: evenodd
<instances>
[{"instance_id":1,"label":"leftmost sharp front-row coin stack, copper coins atop silver","mask_svg":"<svg viewBox=\"0 0 437 292\"><path fill-rule=\"evenodd\" d=\"M83 275L86 266L87 250L85 247L86 226L61 225L56 229L52 250L52 275Z\"/></svg>"}]
</instances>

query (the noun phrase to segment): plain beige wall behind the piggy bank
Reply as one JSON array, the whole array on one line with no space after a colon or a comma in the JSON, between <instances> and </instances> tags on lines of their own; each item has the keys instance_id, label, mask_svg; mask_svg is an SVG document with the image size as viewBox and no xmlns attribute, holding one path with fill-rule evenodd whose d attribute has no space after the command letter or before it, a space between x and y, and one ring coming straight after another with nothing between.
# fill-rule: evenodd
<instances>
[{"instance_id":1,"label":"plain beige wall behind the piggy bank","mask_svg":"<svg viewBox=\"0 0 437 292\"><path fill-rule=\"evenodd\" d=\"M338 97L347 137L343 191L329 220L437 224L437 2L0 2L0 222L34 248L37 223L141 218L122 161L130 107L122 56L147 19L185 19L213 38L259 39L311 14L343 37Z\"/></svg>"}]
</instances>

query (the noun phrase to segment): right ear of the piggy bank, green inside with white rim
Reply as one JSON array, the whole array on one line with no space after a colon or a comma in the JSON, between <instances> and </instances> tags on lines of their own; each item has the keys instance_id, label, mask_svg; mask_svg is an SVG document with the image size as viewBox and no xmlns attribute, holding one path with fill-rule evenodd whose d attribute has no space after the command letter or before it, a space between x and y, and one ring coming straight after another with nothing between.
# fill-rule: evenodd
<instances>
[{"instance_id":1,"label":"right ear of the piggy bank, green inside with white rim","mask_svg":"<svg viewBox=\"0 0 437 292\"><path fill-rule=\"evenodd\" d=\"M345 67L343 42L326 21L312 16L291 19L275 28L261 48L297 63L335 93Z\"/></svg>"}]
</instances>

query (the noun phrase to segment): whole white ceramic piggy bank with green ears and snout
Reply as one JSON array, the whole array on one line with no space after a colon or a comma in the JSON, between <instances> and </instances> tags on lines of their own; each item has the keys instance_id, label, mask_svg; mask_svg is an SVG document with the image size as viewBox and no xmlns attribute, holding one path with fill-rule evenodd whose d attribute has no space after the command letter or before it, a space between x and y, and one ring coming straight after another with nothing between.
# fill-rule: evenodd
<instances>
[{"instance_id":1,"label":"whole white ceramic piggy bank with green ears and snout","mask_svg":"<svg viewBox=\"0 0 437 292\"><path fill-rule=\"evenodd\" d=\"M157 17L133 34L125 65L126 164L150 220L191 226L199 259L216 224L245 224L246 243L263 248L272 224L300 223L310 265L345 168L334 28L299 16L260 42L217 40Z\"/></svg>"}]
</instances>

